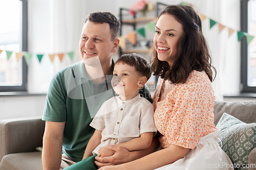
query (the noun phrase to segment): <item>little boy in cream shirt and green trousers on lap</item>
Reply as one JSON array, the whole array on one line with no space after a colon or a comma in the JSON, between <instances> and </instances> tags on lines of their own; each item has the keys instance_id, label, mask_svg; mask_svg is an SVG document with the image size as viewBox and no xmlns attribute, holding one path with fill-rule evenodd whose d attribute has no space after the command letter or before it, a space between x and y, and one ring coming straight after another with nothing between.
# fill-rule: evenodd
<instances>
[{"instance_id":1,"label":"little boy in cream shirt and green trousers on lap","mask_svg":"<svg viewBox=\"0 0 256 170\"><path fill-rule=\"evenodd\" d=\"M151 67L140 55L125 54L114 65L112 86L119 96L104 102L90 126L95 128L83 160L65 169L98 169L95 157L115 154L108 145L116 144L128 151L150 147L157 131L153 106L138 94L151 77ZM93 156L92 156L93 155Z\"/></svg>"}]
</instances>

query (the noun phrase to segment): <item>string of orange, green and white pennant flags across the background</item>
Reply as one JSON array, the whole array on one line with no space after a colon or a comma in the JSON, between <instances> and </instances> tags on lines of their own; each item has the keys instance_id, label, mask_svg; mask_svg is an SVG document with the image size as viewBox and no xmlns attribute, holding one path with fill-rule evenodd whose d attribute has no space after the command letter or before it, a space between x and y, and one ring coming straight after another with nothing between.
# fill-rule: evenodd
<instances>
[{"instance_id":1,"label":"string of orange, green and white pennant flags across the background","mask_svg":"<svg viewBox=\"0 0 256 170\"><path fill-rule=\"evenodd\" d=\"M190 4L187 4L187 3L180 3L180 5L187 5L187 6L191 6ZM206 17L205 15L199 13L197 11L197 13L199 14L201 20L205 20ZM217 21L213 20L213 19L209 19L209 22L210 22L210 29L212 27L214 27L215 25L218 24L219 26L219 33L221 33L221 31L224 29L224 28L228 28L224 25L222 25L221 23L218 23ZM123 36L119 36L119 46L124 50L125 49L125 39L127 39L128 41L130 41L133 45L136 45L136 36L135 34L139 34L141 35L143 38L146 38L146 34L145 34L145 29L148 29L150 31L152 31L153 33L155 33L155 26L156 26L156 23L157 23L157 20L158 18L155 18L153 20L151 20L150 22L146 23L144 26L138 28L137 30L134 30L126 35L123 35ZM242 31L239 31L239 30L234 30L234 29L231 29L231 28L228 28L228 37L230 37L234 32L237 32L237 36L238 36L238 41L240 41L242 39L242 37L246 36L246 40L247 40L247 45L250 44L250 42L252 41L252 39L255 37L253 35L249 35L248 33L246 32L242 32ZM3 52L4 50L0 50L0 55L1 53ZM29 52L12 52L12 51L5 51L6 52L6 56L7 56L7 60L10 59L11 55L13 53L15 53L16 55L16 59L17 61L19 61L21 58L25 57L25 60L26 60L26 63L27 65L30 64L30 60L33 56L32 53L29 53ZM68 52L68 53L59 53L59 54L48 54L50 60L53 62L55 56L58 56L60 62L62 62L63 58L65 55L68 55L70 57L71 60L73 60L73 57L74 57L74 52ZM41 62L42 58L45 57L46 55L45 54L35 54L35 56L37 57L39 63Z\"/></svg>"}]
</instances>

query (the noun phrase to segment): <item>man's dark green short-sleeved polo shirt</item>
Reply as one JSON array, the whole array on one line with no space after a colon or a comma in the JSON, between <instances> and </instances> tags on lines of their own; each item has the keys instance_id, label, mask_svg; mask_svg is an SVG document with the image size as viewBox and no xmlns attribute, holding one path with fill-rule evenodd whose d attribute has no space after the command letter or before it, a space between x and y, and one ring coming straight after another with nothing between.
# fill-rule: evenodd
<instances>
[{"instance_id":1,"label":"man's dark green short-sleeved polo shirt","mask_svg":"<svg viewBox=\"0 0 256 170\"><path fill-rule=\"evenodd\" d=\"M112 60L114 65L114 60ZM90 80L82 61L59 71L51 81L42 120L66 122L62 152L75 162L81 161L87 143L94 133L93 117L108 99L117 94L111 86L112 75L96 85ZM150 91L139 91L151 103Z\"/></svg>"}]
</instances>

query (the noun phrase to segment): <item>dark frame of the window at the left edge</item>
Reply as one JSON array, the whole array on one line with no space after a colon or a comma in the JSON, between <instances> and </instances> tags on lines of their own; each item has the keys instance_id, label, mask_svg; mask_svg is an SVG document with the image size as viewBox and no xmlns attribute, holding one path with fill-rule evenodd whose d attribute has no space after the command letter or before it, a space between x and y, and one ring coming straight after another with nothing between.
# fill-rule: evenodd
<instances>
[{"instance_id":1,"label":"dark frame of the window at the left edge","mask_svg":"<svg viewBox=\"0 0 256 170\"><path fill-rule=\"evenodd\" d=\"M22 51L28 51L28 2L22 2ZM22 58L22 85L20 86L0 86L0 92L27 91L28 66L25 58Z\"/></svg>"}]
</instances>

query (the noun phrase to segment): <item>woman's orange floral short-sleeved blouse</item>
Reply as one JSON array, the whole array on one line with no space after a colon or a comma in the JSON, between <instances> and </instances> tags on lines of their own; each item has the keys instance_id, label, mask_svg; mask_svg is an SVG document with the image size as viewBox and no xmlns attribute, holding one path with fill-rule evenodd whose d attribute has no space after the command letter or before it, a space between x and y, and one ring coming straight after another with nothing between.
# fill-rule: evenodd
<instances>
[{"instance_id":1,"label":"woman's orange floral short-sleeved blouse","mask_svg":"<svg viewBox=\"0 0 256 170\"><path fill-rule=\"evenodd\" d=\"M193 70L187 81L177 84L158 102L163 79L159 77L153 95L154 120L161 133L162 148L169 144L194 149L201 137L215 132L214 90L208 76Z\"/></svg>"}]
</instances>

